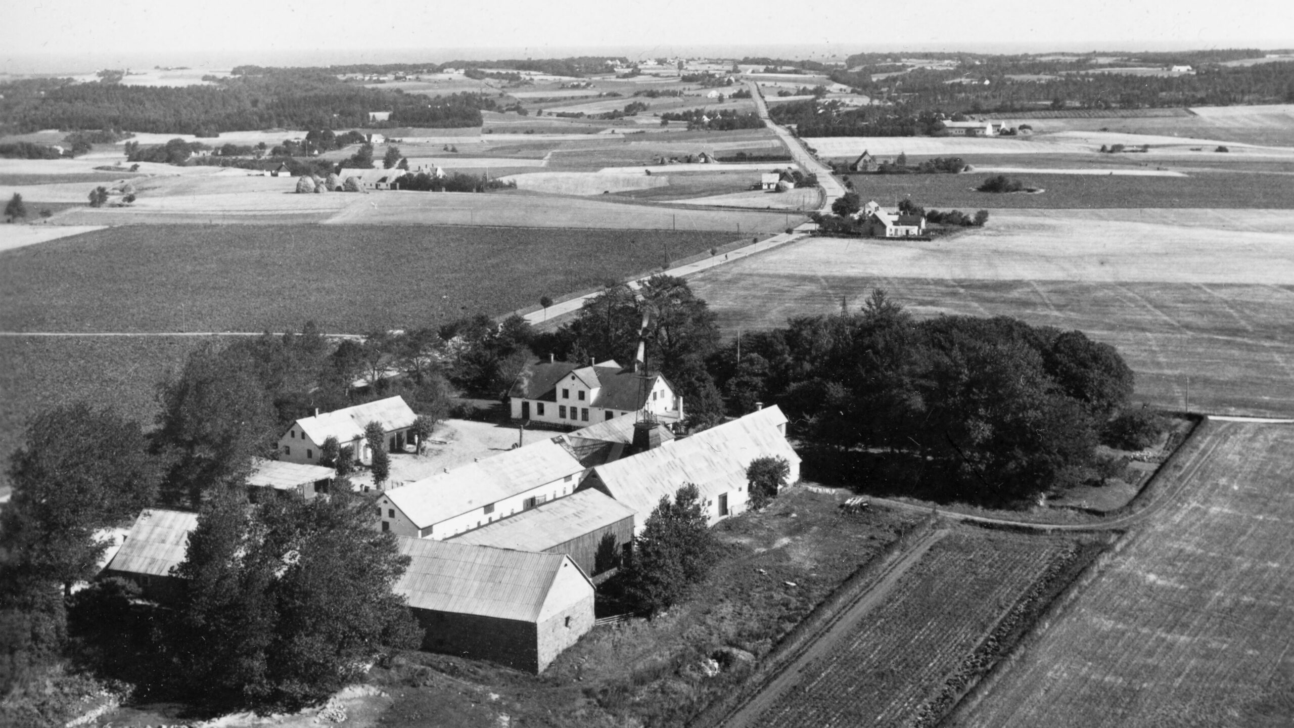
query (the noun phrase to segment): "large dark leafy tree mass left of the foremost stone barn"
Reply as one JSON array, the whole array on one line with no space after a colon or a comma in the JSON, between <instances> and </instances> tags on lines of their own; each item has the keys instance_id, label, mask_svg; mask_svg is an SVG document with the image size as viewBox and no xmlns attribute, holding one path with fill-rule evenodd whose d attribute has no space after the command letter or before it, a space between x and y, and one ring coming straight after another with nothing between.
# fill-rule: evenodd
<instances>
[{"instance_id":1,"label":"large dark leafy tree mass left of the foremost stone barn","mask_svg":"<svg viewBox=\"0 0 1294 728\"><path fill-rule=\"evenodd\" d=\"M180 687L258 712L322 702L421 630L391 589L409 565L371 505L237 497L203 509L176 569L184 595L164 627ZM199 646L199 649L194 649Z\"/></svg>"}]
</instances>

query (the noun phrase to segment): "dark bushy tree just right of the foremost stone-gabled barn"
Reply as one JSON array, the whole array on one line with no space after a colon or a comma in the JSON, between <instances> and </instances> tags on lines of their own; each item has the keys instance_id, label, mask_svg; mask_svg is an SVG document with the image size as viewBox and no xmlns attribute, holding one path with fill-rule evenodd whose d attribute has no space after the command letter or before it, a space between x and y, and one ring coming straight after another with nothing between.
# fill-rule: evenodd
<instances>
[{"instance_id":1,"label":"dark bushy tree just right of the foremost stone-gabled barn","mask_svg":"<svg viewBox=\"0 0 1294 728\"><path fill-rule=\"evenodd\" d=\"M647 517L634 538L625 573L625 593L648 614L669 609L709 573L714 540L700 504L700 491L686 483Z\"/></svg>"}]
</instances>

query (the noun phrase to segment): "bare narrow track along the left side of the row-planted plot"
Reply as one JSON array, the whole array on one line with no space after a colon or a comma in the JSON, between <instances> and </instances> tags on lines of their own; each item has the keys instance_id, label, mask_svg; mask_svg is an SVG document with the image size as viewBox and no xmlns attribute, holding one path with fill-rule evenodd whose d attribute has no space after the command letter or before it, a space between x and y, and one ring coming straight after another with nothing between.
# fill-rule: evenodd
<instances>
[{"instance_id":1,"label":"bare narrow track along the left side of the row-planted plot","mask_svg":"<svg viewBox=\"0 0 1294 728\"><path fill-rule=\"evenodd\" d=\"M903 556L895 560L875 584L868 587L854 604L849 605L842 610L833 622L826 626L826 630L814 637L809 645L796 655L791 662L785 665L771 680L760 688L760 692L753 700L743 705L736 712L729 716L727 720L722 723L725 728L744 728L760 725L760 716L769 710L779 697L792 690L804 679L809 677L805 670L823 658L831 649L846 636L857 632L863 618L867 617L870 611L876 609L898 580L907 573L908 569L915 566L925 552L930 551L936 543L939 541L947 531L938 530L932 531L929 535L921 540L912 544L912 547L903 553Z\"/></svg>"}]
</instances>

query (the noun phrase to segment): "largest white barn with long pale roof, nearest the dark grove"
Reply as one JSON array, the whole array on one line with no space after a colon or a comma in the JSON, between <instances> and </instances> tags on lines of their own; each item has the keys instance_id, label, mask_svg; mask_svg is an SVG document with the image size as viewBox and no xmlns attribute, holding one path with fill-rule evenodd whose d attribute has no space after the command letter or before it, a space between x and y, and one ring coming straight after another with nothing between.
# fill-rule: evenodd
<instances>
[{"instance_id":1,"label":"largest white barn with long pale roof, nearest the dark grove","mask_svg":"<svg viewBox=\"0 0 1294 728\"><path fill-rule=\"evenodd\" d=\"M787 442L787 416L776 405L704 430L688 438L663 442L615 462L599 465L581 490L595 488L634 512L634 532L641 532L661 497L673 497L681 486L700 490L707 518L713 526L745 510L745 469L757 457L783 457L791 466L787 482L800 479L800 456Z\"/></svg>"}]
</instances>

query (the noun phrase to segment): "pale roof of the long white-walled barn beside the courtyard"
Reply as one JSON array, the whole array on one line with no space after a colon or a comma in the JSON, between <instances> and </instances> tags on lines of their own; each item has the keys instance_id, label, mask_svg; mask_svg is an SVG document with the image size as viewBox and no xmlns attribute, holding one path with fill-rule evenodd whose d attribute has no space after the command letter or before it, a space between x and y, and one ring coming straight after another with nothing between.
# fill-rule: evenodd
<instances>
[{"instance_id":1,"label":"pale roof of the long white-walled barn beside the courtyard","mask_svg":"<svg viewBox=\"0 0 1294 728\"><path fill-rule=\"evenodd\" d=\"M383 495L415 526L424 529L505 497L584 472L564 447L540 440L468 462Z\"/></svg>"}]
</instances>

